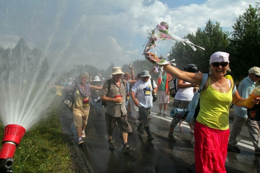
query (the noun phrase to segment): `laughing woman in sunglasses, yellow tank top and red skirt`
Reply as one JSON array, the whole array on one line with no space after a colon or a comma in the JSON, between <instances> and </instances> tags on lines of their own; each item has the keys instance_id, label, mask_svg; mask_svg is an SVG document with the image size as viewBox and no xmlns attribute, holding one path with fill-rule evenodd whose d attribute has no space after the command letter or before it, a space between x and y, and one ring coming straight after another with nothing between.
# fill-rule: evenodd
<instances>
[{"instance_id":1,"label":"laughing woman in sunglasses, yellow tank top and red skirt","mask_svg":"<svg viewBox=\"0 0 260 173\"><path fill-rule=\"evenodd\" d=\"M215 52L209 60L209 77L200 93L200 112L197 116L195 139L196 172L226 172L225 161L229 138L229 104L244 106L245 99L236 91L232 94L234 83L224 75L229 69L229 54ZM163 69L189 83L200 85L203 73L181 71L171 65ZM252 101L254 104L258 100Z\"/></svg>"}]
</instances>

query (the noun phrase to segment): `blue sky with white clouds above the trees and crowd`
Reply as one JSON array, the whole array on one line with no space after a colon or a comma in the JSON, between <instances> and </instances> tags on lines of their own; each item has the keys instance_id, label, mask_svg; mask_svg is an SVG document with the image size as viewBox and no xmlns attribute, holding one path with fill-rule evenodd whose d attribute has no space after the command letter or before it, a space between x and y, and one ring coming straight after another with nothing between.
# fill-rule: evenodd
<instances>
[{"instance_id":1,"label":"blue sky with white clouds above the trees and crowd","mask_svg":"<svg viewBox=\"0 0 260 173\"><path fill-rule=\"evenodd\" d=\"M0 47L23 38L56 70L93 65L106 70L145 59L148 30L159 22L179 37L204 28L210 19L232 32L239 15L257 0L0 0ZM158 55L172 41L158 42ZM194 43L196 44L196 43ZM220 50L221 51L221 50Z\"/></svg>"}]
</instances>

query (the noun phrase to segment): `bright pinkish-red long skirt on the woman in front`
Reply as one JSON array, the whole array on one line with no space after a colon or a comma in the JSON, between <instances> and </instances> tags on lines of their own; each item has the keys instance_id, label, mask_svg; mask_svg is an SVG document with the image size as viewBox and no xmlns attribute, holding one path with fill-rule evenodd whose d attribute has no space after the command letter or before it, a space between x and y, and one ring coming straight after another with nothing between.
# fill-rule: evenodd
<instances>
[{"instance_id":1,"label":"bright pinkish-red long skirt on the woman in front","mask_svg":"<svg viewBox=\"0 0 260 173\"><path fill-rule=\"evenodd\" d=\"M194 154L197 173L226 172L228 138L229 129L212 129L196 121Z\"/></svg>"}]
</instances>

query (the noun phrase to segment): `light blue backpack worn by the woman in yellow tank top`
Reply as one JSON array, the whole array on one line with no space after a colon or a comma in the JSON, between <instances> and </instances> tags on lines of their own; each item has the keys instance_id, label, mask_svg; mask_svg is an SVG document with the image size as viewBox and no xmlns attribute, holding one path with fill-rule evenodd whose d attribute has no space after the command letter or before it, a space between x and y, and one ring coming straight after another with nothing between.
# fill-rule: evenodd
<instances>
[{"instance_id":1,"label":"light blue backpack worn by the woman in yellow tank top","mask_svg":"<svg viewBox=\"0 0 260 173\"><path fill-rule=\"evenodd\" d=\"M209 77L209 74L203 74L200 88L199 90L194 94L192 100L190 101L188 108L187 108L187 115L186 115L186 122L194 124L195 119L197 118L199 111L200 111L200 92L203 89L207 79ZM232 90L232 95L235 94L237 90L236 85L234 85L234 88Z\"/></svg>"}]
</instances>

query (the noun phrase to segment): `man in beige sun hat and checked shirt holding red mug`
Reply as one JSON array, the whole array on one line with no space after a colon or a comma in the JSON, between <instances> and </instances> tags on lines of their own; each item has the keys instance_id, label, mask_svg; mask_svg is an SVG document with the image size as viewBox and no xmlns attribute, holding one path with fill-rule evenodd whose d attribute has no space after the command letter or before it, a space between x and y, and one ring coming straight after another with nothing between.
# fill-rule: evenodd
<instances>
[{"instance_id":1,"label":"man in beige sun hat and checked shirt holding red mug","mask_svg":"<svg viewBox=\"0 0 260 173\"><path fill-rule=\"evenodd\" d=\"M125 82L121 79L121 67L114 67L113 72L110 74L112 78L107 80L100 92L102 101L106 101L106 126L108 134L108 144L111 150L116 149L116 145L112 140L112 133L114 131L116 122L119 132L122 133L123 138L123 151L125 153L134 151L135 148L129 147L127 144L128 133L132 132L132 128L127 122L127 111L125 109Z\"/></svg>"}]
</instances>

